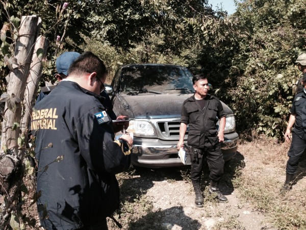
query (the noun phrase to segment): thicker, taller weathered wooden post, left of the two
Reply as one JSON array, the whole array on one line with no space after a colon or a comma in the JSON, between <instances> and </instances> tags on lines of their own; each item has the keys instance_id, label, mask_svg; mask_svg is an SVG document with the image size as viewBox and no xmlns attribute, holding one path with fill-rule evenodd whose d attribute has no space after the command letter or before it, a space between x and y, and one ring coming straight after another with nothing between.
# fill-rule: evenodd
<instances>
[{"instance_id":1,"label":"thicker, taller weathered wooden post, left of the two","mask_svg":"<svg viewBox=\"0 0 306 230\"><path fill-rule=\"evenodd\" d=\"M19 67L14 68L13 75L10 74L11 77L8 84L8 94L11 97L19 98L21 101L23 101L24 90L27 85L38 29L38 17L36 15L22 16L19 38L15 47L15 58L17 58ZM12 129L14 122L20 124L21 120L21 103L18 103L17 106L15 112L11 111L8 109L8 102L6 102L3 113L1 152L7 148L12 150L12 153L17 154L17 138L20 135L20 128Z\"/></svg>"}]
</instances>

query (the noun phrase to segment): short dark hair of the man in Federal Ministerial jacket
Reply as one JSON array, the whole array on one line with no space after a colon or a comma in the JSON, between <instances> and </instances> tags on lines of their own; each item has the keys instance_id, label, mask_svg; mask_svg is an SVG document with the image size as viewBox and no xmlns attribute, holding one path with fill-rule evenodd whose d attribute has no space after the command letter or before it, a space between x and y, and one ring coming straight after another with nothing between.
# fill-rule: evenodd
<instances>
[{"instance_id":1,"label":"short dark hair of the man in Federal Ministerial jacket","mask_svg":"<svg viewBox=\"0 0 306 230\"><path fill-rule=\"evenodd\" d=\"M69 74L82 76L84 73L96 72L99 77L107 74L104 62L92 52L84 52L75 59L68 69Z\"/></svg>"}]
</instances>

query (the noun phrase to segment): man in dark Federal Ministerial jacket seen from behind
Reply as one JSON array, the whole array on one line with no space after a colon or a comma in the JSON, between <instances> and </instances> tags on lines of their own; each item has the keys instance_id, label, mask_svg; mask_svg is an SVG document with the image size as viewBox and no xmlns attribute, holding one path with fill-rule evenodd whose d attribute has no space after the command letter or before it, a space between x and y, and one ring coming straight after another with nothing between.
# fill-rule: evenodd
<instances>
[{"instance_id":1,"label":"man in dark Federal Ministerial jacket seen from behind","mask_svg":"<svg viewBox=\"0 0 306 230\"><path fill-rule=\"evenodd\" d=\"M86 52L33 109L37 205L45 229L108 229L106 217L118 209L115 174L129 168L133 139L124 134L114 141L99 96L106 73L103 61Z\"/></svg>"}]
</instances>

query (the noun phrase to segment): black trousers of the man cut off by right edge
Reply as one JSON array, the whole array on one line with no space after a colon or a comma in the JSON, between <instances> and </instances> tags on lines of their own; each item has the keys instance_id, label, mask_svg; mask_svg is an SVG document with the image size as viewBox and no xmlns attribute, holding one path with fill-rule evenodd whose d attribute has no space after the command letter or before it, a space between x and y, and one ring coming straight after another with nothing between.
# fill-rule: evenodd
<instances>
[{"instance_id":1,"label":"black trousers of the man cut off by right edge","mask_svg":"<svg viewBox=\"0 0 306 230\"><path fill-rule=\"evenodd\" d=\"M292 132L292 142L288 151L289 159L287 161L286 173L295 174L298 163L306 149L306 134L303 133L302 138L299 137L295 132Z\"/></svg>"}]
</instances>

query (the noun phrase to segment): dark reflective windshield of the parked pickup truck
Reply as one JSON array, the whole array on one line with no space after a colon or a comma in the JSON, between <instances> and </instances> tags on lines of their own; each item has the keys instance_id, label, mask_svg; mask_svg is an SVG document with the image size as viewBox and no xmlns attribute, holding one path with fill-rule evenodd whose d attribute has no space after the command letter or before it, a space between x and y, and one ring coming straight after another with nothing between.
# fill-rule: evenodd
<instances>
[{"instance_id":1,"label":"dark reflective windshield of the parked pickup truck","mask_svg":"<svg viewBox=\"0 0 306 230\"><path fill-rule=\"evenodd\" d=\"M120 76L121 93L190 94L192 74L187 68L172 65L133 65L123 67Z\"/></svg>"}]
</instances>

